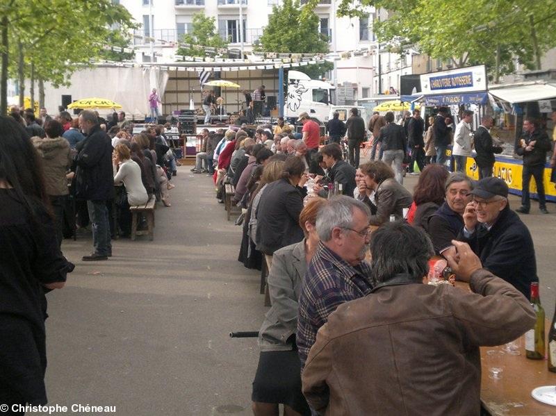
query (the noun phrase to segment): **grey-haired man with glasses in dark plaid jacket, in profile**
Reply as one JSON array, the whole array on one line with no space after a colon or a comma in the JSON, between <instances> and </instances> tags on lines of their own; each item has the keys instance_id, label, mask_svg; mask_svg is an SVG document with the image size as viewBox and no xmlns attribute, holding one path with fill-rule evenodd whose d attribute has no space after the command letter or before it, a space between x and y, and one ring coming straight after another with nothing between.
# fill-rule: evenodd
<instances>
[{"instance_id":1,"label":"grey-haired man with glasses in dark plaid jacket, in profile","mask_svg":"<svg viewBox=\"0 0 556 416\"><path fill-rule=\"evenodd\" d=\"M363 297L373 289L365 261L369 219L365 203L343 195L330 199L318 212L320 242L303 279L297 319L296 342L302 367L328 315L341 303Z\"/></svg>"}]
</instances>

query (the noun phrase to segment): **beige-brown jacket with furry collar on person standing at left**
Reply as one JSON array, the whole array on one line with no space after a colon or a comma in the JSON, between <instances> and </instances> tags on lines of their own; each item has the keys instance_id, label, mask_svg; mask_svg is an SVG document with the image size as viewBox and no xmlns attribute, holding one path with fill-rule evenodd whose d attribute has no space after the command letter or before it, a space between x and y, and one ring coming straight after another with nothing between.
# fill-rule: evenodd
<instances>
[{"instance_id":1,"label":"beige-brown jacket with furry collar on person standing at left","mask_svg":"<svg viewBox=\"0 0 556 416\"><path fill-rule=\"evenodd\" d=\"M51 196L69 194L65 174L68 167L72 165L70 144L65 138L34 138L33 145L42 157L47 194Z\"/></svg>"}]
</instances>

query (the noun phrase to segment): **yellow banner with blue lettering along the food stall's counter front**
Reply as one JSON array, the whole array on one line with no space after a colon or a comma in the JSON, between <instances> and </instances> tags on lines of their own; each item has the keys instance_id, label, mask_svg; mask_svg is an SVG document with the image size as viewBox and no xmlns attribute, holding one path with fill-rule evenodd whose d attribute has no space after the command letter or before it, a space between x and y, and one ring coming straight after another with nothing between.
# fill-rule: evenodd
<instances>
[{"instance_id":1,"label":"yellow banner with blue lettering along the food stall's counter front","mask_svg":"<svg viewBox=\"0 0 556 416\"><path fill-rule=\"evenodd\" d=\"M467 176L475 180L479 179L479 168L475 163L475 159L467 158ZM552 168L548 163L545 165L544 169L544 193L546 195L547 201L556 202L556 184L550 182L550 172ZM521 196L521 190L523 189L523 182L521 174L523 173L523 164L520 159L509 158L507 156L496 156L496 162L494 163L493 176L500 178L505 183L507 183L509 188L509 193ZM534 178L531 178L529 185L529 192L532 199L538 199L537 195L537 185L534 182ZM517 207L512 207L517 208Z\"/></svg>"}]
</instances>

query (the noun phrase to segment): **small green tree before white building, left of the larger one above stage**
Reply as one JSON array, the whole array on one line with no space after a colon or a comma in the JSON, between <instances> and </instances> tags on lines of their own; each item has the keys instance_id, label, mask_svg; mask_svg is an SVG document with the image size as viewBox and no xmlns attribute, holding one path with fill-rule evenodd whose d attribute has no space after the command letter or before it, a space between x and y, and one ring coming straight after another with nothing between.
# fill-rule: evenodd
<instances>
[{"instance_id":1,"label":"small green tree before white building, left of the larger one above stage","mask_svg":"<svg viewBox=\"0 0 556 416\"><path fill-rule=\"evenodd\" d=\"M203 12L193 15L191 33L182 36L181 42L185 42L193 47L179 47L177 55L184 56L206 56L207 52L203 47L226 48L228 42L220 37L216 31L214 17L206 17Z\"/></svg>"}]
</instances>

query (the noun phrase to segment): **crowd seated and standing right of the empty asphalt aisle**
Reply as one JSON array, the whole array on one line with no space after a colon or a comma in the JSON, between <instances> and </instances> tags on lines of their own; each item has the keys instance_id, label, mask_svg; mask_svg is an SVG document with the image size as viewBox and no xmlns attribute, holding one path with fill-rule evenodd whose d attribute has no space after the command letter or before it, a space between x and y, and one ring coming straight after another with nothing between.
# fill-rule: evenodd
<instances>
[{"instance_id":1,"label":"crowd seated and standing right of the empty asphalt aisle","mask_svg":"<svg viewBox=\"0 0 556 416\"><path fill-rule=\"evenodd\" d=\"M445 124L443 114L437 117L442 121L434 124ZM206 151L195 172L213 172L219 202L223 185L235 185L234 202L243 209L238 260L269 270L272 306L259 332L255 415L278 415L279 404L285 415L415 406L418 413L479 413L479 347L532 327L534 246L509 208L507 184L492 169L472 181L461 158L456 172L442 156L425 163L427 131L418 111L412 118L408 142L387 114L377 140L382 160L371 157L357 169L337 136L313 145L309 128L301 137L272 136L270 126L202 133ZM299 122L307 119L302 113ZM456 140L468 134L463 127L455 129ZM440 140L427 141L436 156L445 151ZM414 160L423 163L414 192L400 183L396 161L408 146L419 149ZM468 142L461 149L468 151ZM427 284L432 256L444 258L471 292ZM500 308L491 314L493 304ZM455 376L462 372L464 382ZM438 383L416 387L420 374ZM453 380L449 394L438 390L443 379Z\"/></svg>"}]
</instances>

